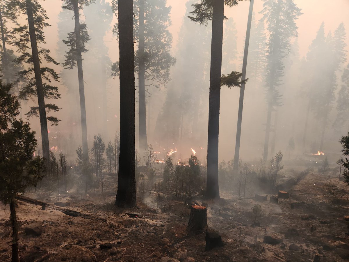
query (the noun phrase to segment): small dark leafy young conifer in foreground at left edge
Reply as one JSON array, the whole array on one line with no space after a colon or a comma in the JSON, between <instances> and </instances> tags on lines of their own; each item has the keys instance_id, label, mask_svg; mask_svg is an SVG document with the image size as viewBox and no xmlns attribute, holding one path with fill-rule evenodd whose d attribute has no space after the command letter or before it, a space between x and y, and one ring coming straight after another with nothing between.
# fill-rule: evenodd
<instances>
[{"instance_id":1,"label":"small dark leafy young conifer in foreground at left edge","mask_svg":"<svg viewBox=\"0 0 349 262\"><path fill-rule=\"evenodd\" d=\"M18 262L16 196L42 180L44 161L33 157L37 146L35 131L31 131L28 122L17 120L20 103L10 94L11 88L11 84L0 83L0 200L10 205L12 261Z\"/></svg>"}]
</instances>

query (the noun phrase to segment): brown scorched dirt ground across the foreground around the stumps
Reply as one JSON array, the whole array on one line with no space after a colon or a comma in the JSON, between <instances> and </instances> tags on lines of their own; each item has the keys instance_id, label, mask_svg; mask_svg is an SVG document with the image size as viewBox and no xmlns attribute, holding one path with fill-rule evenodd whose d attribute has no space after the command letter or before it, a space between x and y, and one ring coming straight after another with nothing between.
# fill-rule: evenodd
<instances>
[{"instance_id":1,"label":"brown scorched dirt ground across the foreground around the stumps","mask_svg":"<svg viewBox=\"0 0 349 262\"><path fill-rule=\"evenodd\" d=\"M238 200L221 192L218 202L205 201L208 226L222 236L225 245L205 252L205 233L187 233L190 209L184 202L172 201L166 210L158 203L157 213L138 199L138 209L121 210L113 203L115 196L103 201L101 195L89 196L36 192L28 197L53 204L71 203L69 209L106 218L107 222L64 213L29 203L18 202L20 220L20 254L25 262L50 255L44 261L159 261L168 256L180 261L342 261L338 255L349 250L349 187L338 178L311 173L290 191L289 199L279 204L254 199ZM202 199L195 199L200 204ZM260 204L260 226L252 227L252 206ZM156 204L155 204L156 208ZM131 218L126 213L140 214ZM347 218L349 220L349 217ZM43 233L33 237L24 227L39 222ZM295 228L298 234L285 236ZM11 230L9 206L0 204L0 236ZM293 230L292 232L296 232ZM271 235L282 239L277 245L263 243ZM100 244L113 248L101 250ZM290 245L297 248L290 250ZM110 246L110 247L111 247ZM292 249L292 248L291 248ZM324 250L325 249L325 250ZM342 250L343 251L343 250ZM0 239L0 261L10 261L11 238Z\"/></svg>"}]
</instances>

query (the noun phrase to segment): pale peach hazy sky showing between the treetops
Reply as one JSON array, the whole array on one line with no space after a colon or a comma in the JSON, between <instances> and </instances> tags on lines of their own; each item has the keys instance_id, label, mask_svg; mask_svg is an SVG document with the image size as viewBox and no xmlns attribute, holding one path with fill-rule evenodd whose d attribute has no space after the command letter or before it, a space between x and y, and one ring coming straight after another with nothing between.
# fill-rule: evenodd
<instances>
[{"instance_id":1,"label":"pale peach hazy sky showing between the treetops","mask_svg":"<svg viewBox=\"0 0 349 262\"><path fill-rule=\"evenodd\" d=\"M111 0L106 0L111 3ZM50 17L50 23L52 27L47 30L47 43L50 46L61 41L57 37L57 16L61 10L62 1L60 0L46 0L39 1L43 7L47 10L47 15ZM187 0L168 0L168 5L172 6L171 20L172 26L170 31L173 35L173 46L176 46L178 39L178 32L183 21L185 14L185 3ZM257 19L261 16L258 12L262 9L262 1L254 1L254 12ZM302 9L303 15L297 20L299 27L299 45L301 56L305 55L308 47L314 39L315 34L320 27L322 21L325 22L326 33L329 30L334 31L339 23L344 22L344 26L349 32L349 0L295 0L296 5ZM247 14L248 14L249 1L242 1L237 6L232 8L225 8L225 15L227 17L233 17L238 30L238 48L243 49L244 35L246 32ZM84 17L81 17L84 20ZM116 21L115 17L113 23ZM88 17L86 17L88 25ZM73 24L73 21L72 21ZM118 58L117 41L116 38L110 33L105 37L105 42L110 48L110 56L112 61ZM349 38L347 37L347 44L349 46ZM347 49L349 50L347 46ZM51 48L54 52L55 48Z\"/></svg>"}]
</instances>

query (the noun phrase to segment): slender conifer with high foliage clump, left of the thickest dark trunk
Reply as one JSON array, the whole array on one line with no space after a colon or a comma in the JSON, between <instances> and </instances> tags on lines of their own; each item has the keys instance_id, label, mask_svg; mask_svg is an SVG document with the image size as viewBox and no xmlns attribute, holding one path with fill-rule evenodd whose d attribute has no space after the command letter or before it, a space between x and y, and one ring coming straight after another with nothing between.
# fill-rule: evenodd
<instances>
[{"instance_id":1,"label":"slender conifer with high foliage clump, left of the thickest dark trunk","mask_svg":"<svg viewBox=\"0 0 349 262\"><path fill-rule=\"evenodd\" d=\"M80 23L79 10L82 10L84 5L88 6L94 0L62 0L65 3L63 8L74 11L75 30L68 34L68 40L63 42L69 46L67 51L66 61L64 66L72 69L77 66L77 77L79 80L79 96L80 96L80 113L81 113L81 133L82 133L82 150L84 160L88 162L88 143L87 143L87 120L86 120L86 105L85 105L85 90L84 77L82 68L82 53L87 52L85 48L86 42L90 39L87 33L85 23Z\"/></svg>"}]
</instances>

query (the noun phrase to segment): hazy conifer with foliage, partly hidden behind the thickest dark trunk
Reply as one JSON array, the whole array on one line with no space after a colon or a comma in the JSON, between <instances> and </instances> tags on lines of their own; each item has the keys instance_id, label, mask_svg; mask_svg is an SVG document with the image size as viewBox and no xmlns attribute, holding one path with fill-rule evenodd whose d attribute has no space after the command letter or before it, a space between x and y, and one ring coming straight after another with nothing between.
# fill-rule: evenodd
<instances>
[{"instance_id":1,"label":"hazy conifer with foliage, partly hidden behind the thickest dark trunk","mask_svg":"<svg viewBox=\"0 0 349 262\"><path fill-rule=\"evenodd\" d=\"M117 13L118 0L113 0L113 10ZM139 149L148 147L146 121L146 80L159 88L170 79L170 67L176 59L170 54L172 35L168 30L171 25L171 7L166 7L164 0L134 1L134 41L138 42L135 53L135 70L138 73L139 90ZM114 33L117 34L117 24ZM116 68L117 64L114 64Z\"/></svg>"}]
</instances>

